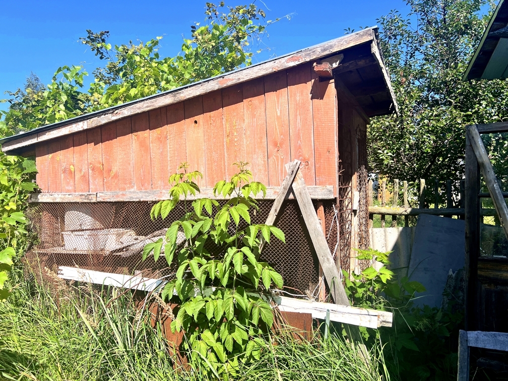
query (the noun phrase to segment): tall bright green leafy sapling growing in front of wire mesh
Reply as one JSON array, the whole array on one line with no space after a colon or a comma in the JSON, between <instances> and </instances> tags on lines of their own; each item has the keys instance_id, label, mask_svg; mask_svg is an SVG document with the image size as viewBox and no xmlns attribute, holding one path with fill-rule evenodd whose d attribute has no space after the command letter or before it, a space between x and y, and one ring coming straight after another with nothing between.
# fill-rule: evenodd
<instances>
[{"instance_id":1,"label":"tall bright green leafy sapling growing in front of wire mesh","mask_svg":"<svg viewBox=\"0 0 508 381\"><path fill-rule=\"evenodd\" d=\"M271 285L282 288L282 277L266 262L260 262L263 240L271 236L284 241L274 226L251 224L250 214L259 207L251 195L266 194L265 185L252 181L246 163L236 163L239 172L230 181L219 181L215 196L228 201L198 198L188 205L187 195L196 197L196 179L201 173L183 170L169 179L170 200L155 204L152 218L166 218L181 201L185 215L174 221L162 238L145 246L143 258L153 253L157 261L164 245L176 278L162 292L163 298L178 296L181 305L173 331L185 332L182 350L200 371L235 374L240 363L259 360L272 324L270 304L263 299ZM183 233L182 239L179 240Z\"/></svg>"}]
</instances>

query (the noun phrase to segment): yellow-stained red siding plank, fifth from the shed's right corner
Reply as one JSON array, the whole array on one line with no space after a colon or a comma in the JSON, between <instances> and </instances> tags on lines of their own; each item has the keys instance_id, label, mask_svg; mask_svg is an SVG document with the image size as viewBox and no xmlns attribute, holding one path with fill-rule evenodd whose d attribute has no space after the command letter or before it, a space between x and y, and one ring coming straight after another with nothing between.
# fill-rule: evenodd
<instances>
[{"instance_id":1,"label":"yellow-stained red siding plank, fifth from the shed's right corner","mask_svg":"<svg viewBox=\"0 0 508 381\"><path fill-rule=\"evenodd\" d=\"M242 86L228 87L222 94L226 177L229 179L238 172L238 167L233 164L246 161Z\"/></svg>"}]
</instances>

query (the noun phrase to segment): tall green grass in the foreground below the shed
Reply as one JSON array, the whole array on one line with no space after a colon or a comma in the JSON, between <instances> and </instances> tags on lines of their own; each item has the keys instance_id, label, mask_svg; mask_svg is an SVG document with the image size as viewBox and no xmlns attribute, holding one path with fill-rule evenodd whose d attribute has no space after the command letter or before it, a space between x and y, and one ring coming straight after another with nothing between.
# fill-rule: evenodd
<instances>
[{"instance_id":1,"label":"tall green grass in the foreground below the shed","mask_svg":"<svg viewBox=\"0 0 508 381\"><path fill-rule=\"evenodd\" d=\"M208 379L174 366L160 327L153 329L131 293L66 285L55 293L18 276L14 294L0 303L0 379L174 380ZM244 364L237 380L386 379L373 348L362 358L339 335L311 342L278 336L262 358ZM192 364L191 369L192 369Z\"/></svg>"}]
</instances>

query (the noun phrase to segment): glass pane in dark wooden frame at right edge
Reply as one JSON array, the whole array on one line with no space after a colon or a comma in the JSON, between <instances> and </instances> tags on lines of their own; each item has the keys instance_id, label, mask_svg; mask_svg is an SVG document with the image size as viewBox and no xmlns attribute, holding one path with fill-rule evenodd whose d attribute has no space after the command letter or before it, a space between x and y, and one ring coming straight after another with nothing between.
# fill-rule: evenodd
<instances>
[{"instance_id":1,"label":"glass pane in dark wooden frame at right edge","mask_svg":"<svg viewBox=\"0 0 508 381\"><path fill-rule=\"evenodd\" d=\"M501 257L508 256L508 241L504 235L503 228L499 224L494 204L490 198L482 200L482 210L488 212L485 214L492 214L483 216L483 221L480 224L480 255L482 257ZM504 199L504 201L508 201Z\"/></svg>"}]
</instances>

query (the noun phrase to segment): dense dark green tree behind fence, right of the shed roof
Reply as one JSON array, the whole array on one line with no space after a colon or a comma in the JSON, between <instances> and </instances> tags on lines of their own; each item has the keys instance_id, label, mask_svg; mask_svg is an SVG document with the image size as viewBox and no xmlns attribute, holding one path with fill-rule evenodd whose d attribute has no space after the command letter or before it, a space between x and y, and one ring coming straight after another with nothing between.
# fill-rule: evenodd
<instances>
[{"instance_id":1,"label":"dense dark green tree behind fence, right of the shed roof","mask_svg":"<svg viewBox=\"0 0 508 381\"><path fill-rule=\"evenodd\" d=\"M378 174L409 181L461 177L465 125L508 118L507 81L462 81L494 4L408 0L407 5L407 17L392 11L378 20L400 114L372 119L369 165Z\"/></svg>"}]
</instances>

